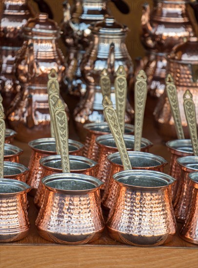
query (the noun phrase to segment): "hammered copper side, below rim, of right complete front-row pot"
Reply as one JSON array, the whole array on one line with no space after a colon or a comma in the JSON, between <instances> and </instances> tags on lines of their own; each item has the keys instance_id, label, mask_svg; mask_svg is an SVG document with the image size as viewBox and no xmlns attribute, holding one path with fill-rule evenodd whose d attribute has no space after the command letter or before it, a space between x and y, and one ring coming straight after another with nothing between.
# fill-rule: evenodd
<instances>
[{"instance_id":1,"label":"hammered copper side, below rim, of right complete front-row pot","mask_svg":"<svg viewBox=\"0 0 198 268\"><path fill-rule=\"evenodd\" d=\"M107 227L122 243L153 246L167 242L176 233L170 188L135 190L119 186ZM144 242L143 242L144 241Z\"/></svg>"}]
</instances>

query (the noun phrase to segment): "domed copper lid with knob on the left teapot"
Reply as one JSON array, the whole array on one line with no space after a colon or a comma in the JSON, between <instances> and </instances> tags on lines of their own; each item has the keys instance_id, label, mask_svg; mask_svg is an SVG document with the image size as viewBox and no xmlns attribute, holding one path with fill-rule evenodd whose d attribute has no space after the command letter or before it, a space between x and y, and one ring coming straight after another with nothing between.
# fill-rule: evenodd
<instances>
[{"instance_id":1,"label":"domed copper lid with knob on the left teapot","mask_svg":"<svg viewBox=\"0 0 198 268\"><path fill-rule=\"evenodd\" d=\"M56 21L48 18L47 13L40 13L36 18L28 19L23 26L26 38L57 39L60 37L59 26Z\"/></svg>"}]
</instances>

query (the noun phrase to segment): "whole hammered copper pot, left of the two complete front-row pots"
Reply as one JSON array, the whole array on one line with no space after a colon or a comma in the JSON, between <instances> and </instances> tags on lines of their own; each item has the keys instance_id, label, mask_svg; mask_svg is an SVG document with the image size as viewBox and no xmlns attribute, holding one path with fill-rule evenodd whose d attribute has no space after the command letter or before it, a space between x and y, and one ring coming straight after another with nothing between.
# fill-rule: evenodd
<instances>
[{"instance_id":1,"label":"whole hammered copper pot, left of the two complete front-row pots","mask_svg":"<svg viewBox=\"0 0 198 268\"><path fill-rule=\"evenodd\" d=\"M58 173L42 183L46 191L36 226L44 239L78 245L99 238L104 229L101 181L84 174Z\"/></svg>"}]
</instances>

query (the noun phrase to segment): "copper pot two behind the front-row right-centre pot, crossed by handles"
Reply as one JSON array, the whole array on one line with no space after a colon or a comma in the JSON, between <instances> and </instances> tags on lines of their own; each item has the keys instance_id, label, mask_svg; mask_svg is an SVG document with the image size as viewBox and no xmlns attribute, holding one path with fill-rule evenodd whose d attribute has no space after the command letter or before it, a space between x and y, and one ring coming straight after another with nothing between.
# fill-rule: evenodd
<instances>
[{"instance_id":1,"label":"copper pot two behind the front-row right-centre pot, crossed by handles","mask_svg":"<svg viewBox=\"0 0 198 268\"><path fill-rule=\"evenodd\" d=\"M124 141L126 144L127 151L133 151L134 149L134 136L124 134ZM104 185L102 189L106 188L108 180L110 178L110 163L107 160L107 156L111 153L118 152L115 140L112 134L102 135L96 139L96 143L99 146L99 172L97 178L101 180ZM152 143L142 138L141 140L141 151L148 152L149 148L152 147Z\"/></svg>"}]
</instances>

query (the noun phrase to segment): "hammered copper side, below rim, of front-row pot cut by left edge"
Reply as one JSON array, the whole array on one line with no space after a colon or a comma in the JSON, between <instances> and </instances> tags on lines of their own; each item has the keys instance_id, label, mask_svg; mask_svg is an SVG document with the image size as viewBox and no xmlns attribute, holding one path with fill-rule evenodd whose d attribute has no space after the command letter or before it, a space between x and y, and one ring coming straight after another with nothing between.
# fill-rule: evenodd
<instances>
[{"instance_id":1,"label":"hammered copper side, below rim, of front-row pot cut by left edge","mask_svg":"<svg viewBox=\"0 0 198 268\"><path fill-rule=\"evenodd\" d=\"M18 196L1 196L0 242L19 240L29 228L26 193Z\"/></svg>"}]
</instances>

